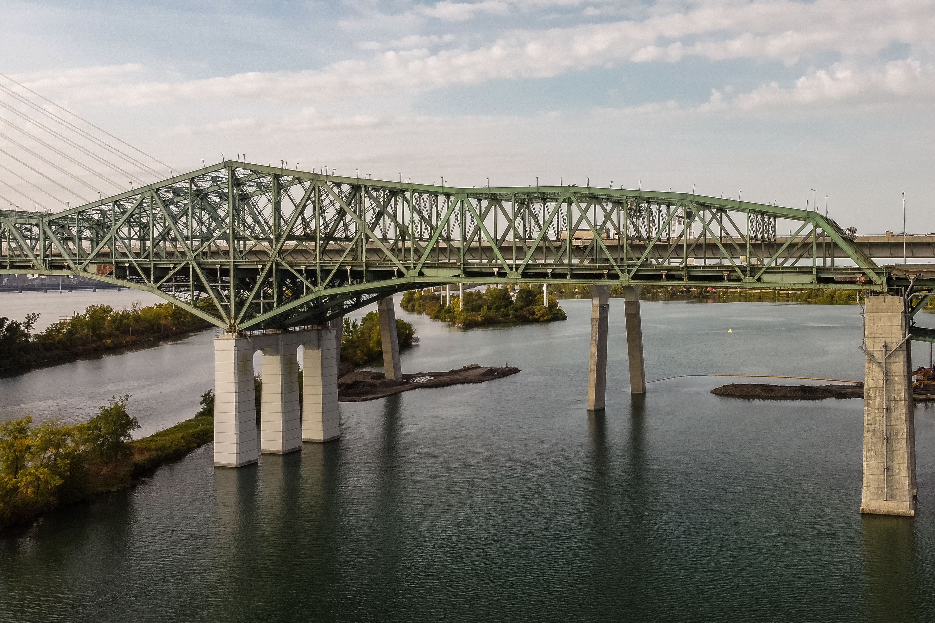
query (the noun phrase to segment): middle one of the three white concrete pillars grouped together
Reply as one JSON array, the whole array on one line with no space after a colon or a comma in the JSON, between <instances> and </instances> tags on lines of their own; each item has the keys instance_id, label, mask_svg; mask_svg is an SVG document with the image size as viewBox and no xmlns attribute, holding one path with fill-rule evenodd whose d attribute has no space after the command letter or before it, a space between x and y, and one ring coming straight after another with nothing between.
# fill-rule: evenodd
<instances>
[{"instance_id":1,"label":"middle one of the three white concrete pillars grouped together","mask_svg":"<svg viewBox=\"0 0 935 623\"><path fill-rule=\"evenodd\" d=\"M302 419L298 402L298 360L295 347L263 348L262 352L260 452L286 454L301 450Z\"/></svg>"}]
</instances>

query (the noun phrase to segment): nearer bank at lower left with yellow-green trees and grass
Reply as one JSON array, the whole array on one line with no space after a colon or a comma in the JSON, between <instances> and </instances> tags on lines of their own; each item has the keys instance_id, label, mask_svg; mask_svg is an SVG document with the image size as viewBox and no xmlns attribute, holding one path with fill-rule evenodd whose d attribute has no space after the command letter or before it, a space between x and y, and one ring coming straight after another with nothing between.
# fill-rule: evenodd
<instances>
[{"instance_id":1,"label":"nearer bank at lower left with yellow-green trees and grass","mask_svg":"<svg viewBox=\"0 0 935 623\"><path fill-rule=\"evenodd\" d=\"M30 416L0 422L0 531L133 487L140 475L214 439L213 400L204 395L194 418L136 440L129 399L113 397L85 424L33 426Z\"/></svg>"}]
</instances>

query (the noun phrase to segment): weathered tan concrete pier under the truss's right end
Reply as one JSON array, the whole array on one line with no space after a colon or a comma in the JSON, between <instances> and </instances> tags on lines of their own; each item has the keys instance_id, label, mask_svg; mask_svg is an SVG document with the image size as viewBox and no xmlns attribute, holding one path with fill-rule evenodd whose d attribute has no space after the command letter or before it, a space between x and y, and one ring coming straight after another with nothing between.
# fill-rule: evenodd
<instances>
[{"instance_id":1,"label":"weathered tan concrete pier under the truss's right end","mask_svg":"<svg viewBox=\"0 0 935 623\"><path fill-rule=\"evenodd\" d=\"M903 298L868 297L861 513L915 516L915 405L907 334Z\"/></svg>"}]
</instances>

